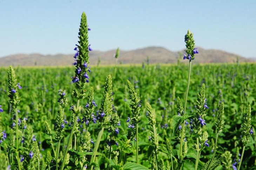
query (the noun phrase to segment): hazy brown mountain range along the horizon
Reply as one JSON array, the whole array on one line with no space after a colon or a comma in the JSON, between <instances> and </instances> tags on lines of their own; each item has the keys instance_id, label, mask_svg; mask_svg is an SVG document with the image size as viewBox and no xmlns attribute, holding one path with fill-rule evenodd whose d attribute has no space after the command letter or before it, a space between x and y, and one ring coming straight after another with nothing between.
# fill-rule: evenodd
<instances>
[{"instance_id":1,"label":"hazy brown mountain range along the horizon","mask_svg":"<svg viewBox=\"0 0 256 170\"><path fill-rule=\"evenodd\" d=\"M240 62L256 62L256 59L245 58L236 54L231 54L221 50L206 50L198 48L199 54L196 55L194 63L232 63L237 61L239 57ZM96 65L100 60L100 65L115 64L116 50L106 52L90 51L90 64ZM142 49L123 51L120 50L118 63L122 64L142 64L149 63L177 63L183 61L183 51L169 51L162 47L147 47ZM74 62L74 54L57 54L57 55L41 55L41 54L15 54L0 58L0 66L68 66Z\"/></svg>"}]
</instances>

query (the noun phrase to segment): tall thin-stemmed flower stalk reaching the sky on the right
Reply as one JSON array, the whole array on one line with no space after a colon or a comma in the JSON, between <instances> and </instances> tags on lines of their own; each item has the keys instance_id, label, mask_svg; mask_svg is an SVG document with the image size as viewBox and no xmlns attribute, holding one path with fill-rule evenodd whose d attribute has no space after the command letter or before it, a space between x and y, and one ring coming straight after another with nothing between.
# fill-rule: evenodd
<instances>
[{"instance_id":1,"label":"tall thin-stemmed flower stalk reaching the sky on the right","mask_svg":"<svg viewBox=\"0 0 256 170\"><path fill-rule=\"evenodd\" d=\"M186 90L186 95L185 95L185 104L184 104L184 113L183 113L183 119L181 122L181 140L180 140L180 155L182 155L182 150L184 148L184 140L185 140L185 133L184 133L184 127L185 127L185 118L186 118L186 107L187 107L187 98L188 98L188 90L189 90L189 82L190 82L190 73L191 73L191 61L195 59L195 55L198 54L197 48L195 48L195 40L193 38L193 33L191 33L188 30L188 33L185 35L185 43L187 49L185 52L187 54L183 54L183 59L188 59L189 60L189 70L188 70L188 84L187 84L187 90ZM179 169L182 168L183 164L183 158L180 158L179 161Z\"/></svg>"}]
</instances>

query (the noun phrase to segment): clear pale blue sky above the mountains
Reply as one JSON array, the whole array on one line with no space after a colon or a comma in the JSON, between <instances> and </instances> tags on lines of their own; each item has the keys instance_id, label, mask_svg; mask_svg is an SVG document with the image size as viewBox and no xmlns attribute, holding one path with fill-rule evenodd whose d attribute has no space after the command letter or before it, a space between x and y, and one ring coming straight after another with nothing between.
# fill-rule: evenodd
<instances>
[{"instance_id":1,"label":"clear pale blue sky above the mountains","mask_svg":"<svg viewBox=\"0 0 256 170\"><path fill-rule=\"evenodd\" d=\"M256 0L0 0L0 57L73 54L82 12L93 50L197 47L256 57ZM199 51L200 52L200 51Z\"/></svg>"}]
</instances>

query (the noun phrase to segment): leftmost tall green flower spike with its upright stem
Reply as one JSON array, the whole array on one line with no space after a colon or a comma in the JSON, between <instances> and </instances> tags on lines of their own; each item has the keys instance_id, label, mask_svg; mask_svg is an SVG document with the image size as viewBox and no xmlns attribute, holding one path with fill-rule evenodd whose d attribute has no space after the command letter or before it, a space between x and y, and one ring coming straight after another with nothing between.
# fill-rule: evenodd
<instances>
[{"instance_id":1,"label":"leftmost tall green flower spike with its upright stem","mask_svg":"<svg viewBox=\"0 0 256 170\"><path fill-rule=\"evenodd\" d=\"M20 97L19 97L19 92L18 89L21 89L22 87L20 86L20 83L17 83L15 72L12 68L12 66L9 67L8 69L8 90L9 90L9 103L12 106L12 113L14 116L15 123L15 139L13 142L16 140L16 160L18 163L18 168L19 170L21 169L20 165L20 159L19 159L19 115L18 115L18 109L17 106L19 105L20 102Z\"/></svg>"}]
</instances>

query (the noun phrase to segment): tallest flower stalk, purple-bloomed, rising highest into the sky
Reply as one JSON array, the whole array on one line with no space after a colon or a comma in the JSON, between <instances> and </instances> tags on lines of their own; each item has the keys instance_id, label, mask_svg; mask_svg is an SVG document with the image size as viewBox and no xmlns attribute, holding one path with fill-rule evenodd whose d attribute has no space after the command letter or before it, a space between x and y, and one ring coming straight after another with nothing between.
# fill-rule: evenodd
<instances>
[{"instance_id":1,"label":"tallest flower stalk, purple-bloomed, rising highest into the sky","mask_svg":"<svg viewBox=\"0 0 256 170\"><path fill-rule=\"evenodd\" d=\"M88 42L88 28L87 25L87 18L86 14L83 12L81 16L81 22L80 22L80 28L79 28L79 45L76 44L75 47L75 62L73 65L75 65L75 71L74 76L72 77L72 83L75 84L75 89L72 92L72 96L77 99L77 104L72 105L70 107L70 111L72 112L72 130L70 132L70 136L68 139L67 147L65 150L65 153L63 155L63 161L61 164L61 170L64 169L64 166L66 164L66 158L68 154L68 149L70 148L70 144L72 142L72 136L74 134L74 131L76 129L76 123L78 120L78 114L83 109L80 106L80 99L85 99L86 97L86 87L87 83L89 83L89 76L88 73L90 72L89 64L89 51L92 51L90 48L89 42Z\"/></svg>"}]
</instances>

